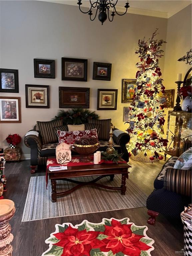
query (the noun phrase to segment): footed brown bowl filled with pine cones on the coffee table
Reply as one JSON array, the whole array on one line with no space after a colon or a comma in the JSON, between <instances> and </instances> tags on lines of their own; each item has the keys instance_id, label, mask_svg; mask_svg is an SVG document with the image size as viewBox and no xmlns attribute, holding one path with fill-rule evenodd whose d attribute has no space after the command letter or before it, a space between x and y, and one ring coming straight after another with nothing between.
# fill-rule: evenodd
<instances>
[{"instance_id":1,"label":"footed brown bowl filled with pine cones on the coffee table","mask_svg":"<svg viewBox=\"0 0 192 256\"><path fill-rule=\"evenodd\" d=\"M100 147L99 141L96 138L83 137L81 140L76 140L72 146L72 150L82 155L81 162L90 162L90 155Z\"/></svg>"}]
</instances>

